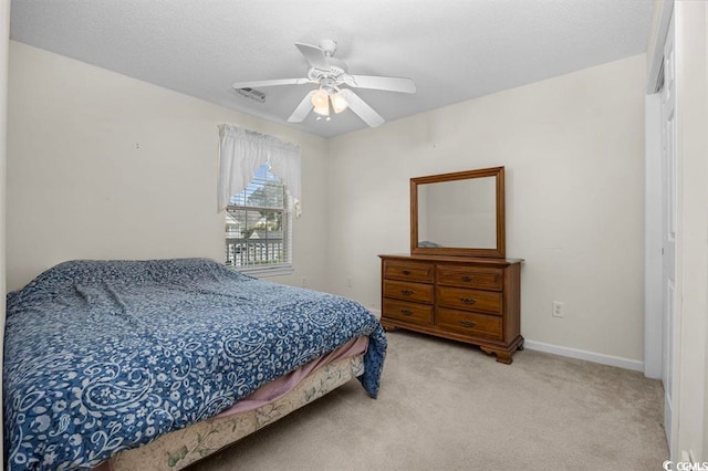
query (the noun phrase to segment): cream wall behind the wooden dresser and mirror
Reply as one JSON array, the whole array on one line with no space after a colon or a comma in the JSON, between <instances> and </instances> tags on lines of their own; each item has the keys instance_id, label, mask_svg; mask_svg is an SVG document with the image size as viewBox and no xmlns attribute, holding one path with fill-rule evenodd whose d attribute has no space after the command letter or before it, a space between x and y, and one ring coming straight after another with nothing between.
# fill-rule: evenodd
<instances>
[{"instance_id":1,"label":"cream wall behind the wooden dresser and mirror","mask_svg":"<svg viewBox=\"0 0 708 471\"><path fill-rule=\"evenodd\" d=\"M644 84L642 54L330 139L330 291L381 307L376 255L409 251L409 178L506 166L522 335L641 368Z\"/></svg>"}]
</instances>

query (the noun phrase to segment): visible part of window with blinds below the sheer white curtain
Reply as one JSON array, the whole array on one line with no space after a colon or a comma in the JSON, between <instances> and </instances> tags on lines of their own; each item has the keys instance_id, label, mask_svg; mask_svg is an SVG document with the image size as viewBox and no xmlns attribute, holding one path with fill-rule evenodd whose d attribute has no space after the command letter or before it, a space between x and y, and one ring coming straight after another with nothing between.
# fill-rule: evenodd
<instances>
[{"instance_id":1,"label":"visible part of window with blinds below the sheer white curtain","mask_svg":"<svg viewBox=\"0 0 708 471\"><path fill-rule=\"evenodd\" d=\"M291 203L285 186L261 165L226 210L226 264L249 274L292 271Z\"/></svg>"}]
</instances>

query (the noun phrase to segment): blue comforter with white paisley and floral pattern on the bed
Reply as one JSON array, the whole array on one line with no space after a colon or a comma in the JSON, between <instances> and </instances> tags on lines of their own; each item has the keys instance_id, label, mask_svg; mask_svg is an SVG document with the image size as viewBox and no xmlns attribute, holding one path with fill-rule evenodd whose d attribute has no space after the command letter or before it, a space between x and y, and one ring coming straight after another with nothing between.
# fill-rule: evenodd
<instances>
[{"instance_id":1,"label":"blue comforter with white paisley and floral pattern on the bed","mask_svg":"<svg viewBox=\"0 0 708 471\"><path fill-rule=\"evenodd\" d=\"M353 301L202 259L59 264L8 295L8 468L95 467L360 335L376 397L386 338Z\"/></svg>"}]
</instances>

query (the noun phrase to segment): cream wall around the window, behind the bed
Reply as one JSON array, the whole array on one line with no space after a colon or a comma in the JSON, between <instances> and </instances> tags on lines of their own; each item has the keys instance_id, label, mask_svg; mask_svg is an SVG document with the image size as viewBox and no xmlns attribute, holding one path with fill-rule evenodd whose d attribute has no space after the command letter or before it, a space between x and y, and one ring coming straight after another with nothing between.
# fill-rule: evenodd
<instances>
[{"instance_id":1,"label":"cream wall around the window, behind the bed","mask_svg":"<svg viewBox=\"0 0 708 471\"><path fill-rule=\"evenodd\" d=\"M294 268L325 286L326 140L10 42L8 287L72 259L223 258L220 123L302 148Z\"/></svg>"}]
</instances>

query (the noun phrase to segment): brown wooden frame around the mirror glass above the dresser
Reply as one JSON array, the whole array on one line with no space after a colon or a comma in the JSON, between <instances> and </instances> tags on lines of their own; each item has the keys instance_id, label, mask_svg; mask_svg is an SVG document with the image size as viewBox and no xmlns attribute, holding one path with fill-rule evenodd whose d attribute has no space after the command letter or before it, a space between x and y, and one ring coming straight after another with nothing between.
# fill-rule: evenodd
<instances>
[{"instance_id":1,"label":"brown wooden frame around the mirror glass above the dresser","mask_svg":"<svg viewBox=\"0 0 708 471\"><path fill-rule=\"evenodd\" d=\"M494 177L497 187L497 247L479 249L472 247L418 247L418 185ZM410 253L416 255L457 255L506 258L504 232L504 168L491 167L452 174L428 175L410 179Z\"/></svg>"}]
</instances>

